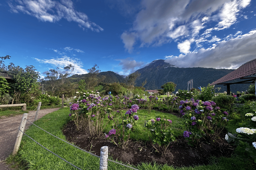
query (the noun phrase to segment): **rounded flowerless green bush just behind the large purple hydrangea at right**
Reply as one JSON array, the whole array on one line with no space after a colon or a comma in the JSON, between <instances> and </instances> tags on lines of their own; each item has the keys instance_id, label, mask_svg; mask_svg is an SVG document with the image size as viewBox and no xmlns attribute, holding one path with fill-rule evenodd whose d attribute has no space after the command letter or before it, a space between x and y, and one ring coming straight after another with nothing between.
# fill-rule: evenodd
<instances>
[{"instance_id":1,"label":"rounded flowerless green bush just behind the large purple hydrangea at right","mask_svg":"<svg viewBox=\"0 0 256 170\"><path fill-rule=\"evenodd\" d=\"M225 93L218 93L218 96L214 96L212 101L220 108L227 109L230 112L232 110L232 104L236 102L236 98Z\"/></svg>"}]
</instances>

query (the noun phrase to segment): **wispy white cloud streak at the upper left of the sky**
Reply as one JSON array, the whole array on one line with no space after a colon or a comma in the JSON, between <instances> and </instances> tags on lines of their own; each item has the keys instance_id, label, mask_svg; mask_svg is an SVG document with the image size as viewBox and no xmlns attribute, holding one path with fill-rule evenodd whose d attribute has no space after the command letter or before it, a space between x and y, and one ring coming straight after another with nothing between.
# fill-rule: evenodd
<instances>
[{"instance_id":1,"label":"wispy white cloud streak at the upper left of the sky","mask_svg":"<svg viewBox=\"0 0 256 170\"><path fill-rule=\"evenodd\" d=\"M36 17L43 22L58 22L62 18L69 22L76 22L83 30L103 31L99 25L91 22L88 16L74 9L71 0L61 0L61 3L53 0L15 0L8 2L11 11L22 12Z\"/></svg>"}]
</instances>

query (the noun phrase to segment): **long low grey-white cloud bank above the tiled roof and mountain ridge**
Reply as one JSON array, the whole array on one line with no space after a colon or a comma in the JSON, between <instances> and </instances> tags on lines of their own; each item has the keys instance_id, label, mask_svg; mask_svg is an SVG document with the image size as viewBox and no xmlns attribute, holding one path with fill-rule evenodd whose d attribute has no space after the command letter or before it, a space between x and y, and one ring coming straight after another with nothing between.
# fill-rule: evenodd
<instances>
[{"instance_id":1,"label":"long low grey-white cloud bank above the tiled roof and mountain ridge","mask_svg":"<svg viewBox=\"0 0 256 170\"><path fill-rule=\"evenodd\" d=\"M165 62L178 67L206 67L236 69L256 58L256 30L222 41L214 48L199 49L186 55L166 57Z\"/></svg>"}]
</instances>

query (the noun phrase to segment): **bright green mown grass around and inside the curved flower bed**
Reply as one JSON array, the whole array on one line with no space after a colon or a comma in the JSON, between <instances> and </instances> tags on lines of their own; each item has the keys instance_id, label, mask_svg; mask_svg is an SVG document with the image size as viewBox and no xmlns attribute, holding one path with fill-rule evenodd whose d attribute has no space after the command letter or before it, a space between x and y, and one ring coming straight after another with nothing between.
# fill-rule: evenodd
<instances>
[{"instance_id":1,"label":"bright green mown grass around and inside the curved flower bed","mask_svg":"<svg viewBox=\"0 0 256 170\"><path fill-rule=\"evenodd\" d=\"M69 108L59 109L56 112L47 114L43 118L34 122L37 126L45 129L46 131L58 136L61 139L65 140L65 136L62 134L61 129L63 126L70 120L69 119ZM176 118L173 115L165 114L161 112L152 111L150 114L147 114L145 110L139 110L139 122L138 125L143 125L142 128L138 128L138 133L141 134L144 132L144 121L148 119L156 118L160 115L162 118L171 119L173 122L173 128L177 129L175 135L180 135L184 129L184 125L180 118ZM54 153L58 154L60 157L63 157L67 161L76 165L77 167L85 169L99 169L99 158L92 156L86 152L83 152L67 143L49 135L48 133L42 131L41 129L31 125L30 128L26 131L26 134L31 136L33 139L38 141L40 144L50 149ZM146 137L139 137L139 135L132 135L132 138L145 140ZM57 156L48 152L34 141L29 139L27 136L23 135L22 142L18 154L15 157L9 157L8 161L15 161L18 163L18 169L40 169L40 170L73 170L76 169L71 165L67 164L65 161L61 160ZM246 162L240 159L238 156L233 156L231 158L211 158L210 165L204 166L194 166L194 167L182 167L175 168L167 165L158 165L155 163L142 163L141 165L135 167L139 170L251 170L254 168L254 164L251 162ZM108 170L123 170L129 169L123 167L119 164L108 162Z\"/></svg>"}]
</instances>

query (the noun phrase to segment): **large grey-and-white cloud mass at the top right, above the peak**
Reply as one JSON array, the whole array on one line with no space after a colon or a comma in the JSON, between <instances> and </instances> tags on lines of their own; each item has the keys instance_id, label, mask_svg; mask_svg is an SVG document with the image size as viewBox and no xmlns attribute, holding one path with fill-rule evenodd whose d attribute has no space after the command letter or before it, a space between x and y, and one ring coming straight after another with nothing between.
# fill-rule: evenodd
<instances>
[{"instance_id":1,"label":"large grey-and-white cloud mass at the top right, above the peak","mask_svg":"<svg viewBox=\"0 0 256 170\"><path fill-rule=\"evenodd\" d=\"M143 0L132 28L124 31L121 39L128 52L137 43L143 47L171 41L178 42L178 48L188 52L188 42L186 49L182 46L186 39L194 39L195 49L201 47L201 43L209 42L212 31L230 28L238 22L241 10L249 4L250 0ZM212 28L210 22L214 23Z\"/></svg>"}]
</instances>

